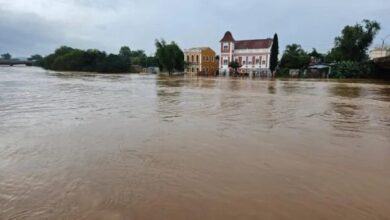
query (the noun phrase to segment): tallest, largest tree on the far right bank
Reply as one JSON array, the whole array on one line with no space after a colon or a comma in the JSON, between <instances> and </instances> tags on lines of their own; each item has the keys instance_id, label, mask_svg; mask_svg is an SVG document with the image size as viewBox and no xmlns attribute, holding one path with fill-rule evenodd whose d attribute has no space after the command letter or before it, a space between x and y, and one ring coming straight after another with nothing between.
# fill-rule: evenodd
<instances>
[{"instance_id":1,"label":"tallest, largest tree on the far right bank","mask_svg":"<svg viewBox=\"0 0 390 220\"><path fill-rule=\"evenodd\" d=\"M363 20L362 24L346 26L341 36L335 38L330 57L335 61L361 62L367 59L368 47L381 29L376 21Z\"/></svg>"}]
</instances>

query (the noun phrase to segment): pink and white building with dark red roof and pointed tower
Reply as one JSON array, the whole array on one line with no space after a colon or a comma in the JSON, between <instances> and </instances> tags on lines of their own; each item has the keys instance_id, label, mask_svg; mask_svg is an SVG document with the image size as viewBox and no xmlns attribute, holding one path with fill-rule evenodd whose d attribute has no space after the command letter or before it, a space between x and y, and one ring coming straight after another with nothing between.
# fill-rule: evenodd
<instances>
[{"instance_id":1,"label":"pink and white building with dark red roof and pointed tower","mask_svg":"<svg viewBox=\"0 0 390 220\"><path fill-rule=\"evenodd\" d=\"M238 72L252 76L270 74L270 57L273 40L235 40L232 33L225 33L221 39L219 72L229 75L232 69L229 64L236 61L241 66Z\"/></svg>"}]
</instances>

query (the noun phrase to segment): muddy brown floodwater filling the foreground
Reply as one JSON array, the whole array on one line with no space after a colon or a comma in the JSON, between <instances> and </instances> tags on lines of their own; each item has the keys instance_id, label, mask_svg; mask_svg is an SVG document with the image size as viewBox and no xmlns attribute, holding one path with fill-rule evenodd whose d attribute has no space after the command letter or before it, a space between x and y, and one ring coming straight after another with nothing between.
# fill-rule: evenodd
<instances>
[{"instance_id":1,"label":"muddy brown floodwater filling the foreground","mask_svg":"<svg viewBox=\"0 0 390 220\"><path fill-rule=\"evenodd\" d=\"M390 219L390 84L0 68L0 219Z\"/></svg>"}]
</instances>

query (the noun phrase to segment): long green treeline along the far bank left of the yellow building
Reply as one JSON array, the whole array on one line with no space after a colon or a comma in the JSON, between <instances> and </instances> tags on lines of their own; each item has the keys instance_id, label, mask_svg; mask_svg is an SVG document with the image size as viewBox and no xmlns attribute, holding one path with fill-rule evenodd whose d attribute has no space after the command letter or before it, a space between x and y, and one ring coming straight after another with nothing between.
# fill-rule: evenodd
<instances>
[{"instance_id":1,"label":"long green treeline along the far bank left of the yellow building","mask_svg":"<svg viewBox=\"0 0 390 220\"><path fill-rule=\"evenodd\" d=\"M58 71L99 73L136 73L140 68L160 67L172 73L184 69L184 54L175 42L156 40L156 56L146 56L143 50L132 51L123 46L118 54L106 54L97 49L81 50L62 46L46 57L31 56L34 65Z\"/></svg>"}]
</instances>

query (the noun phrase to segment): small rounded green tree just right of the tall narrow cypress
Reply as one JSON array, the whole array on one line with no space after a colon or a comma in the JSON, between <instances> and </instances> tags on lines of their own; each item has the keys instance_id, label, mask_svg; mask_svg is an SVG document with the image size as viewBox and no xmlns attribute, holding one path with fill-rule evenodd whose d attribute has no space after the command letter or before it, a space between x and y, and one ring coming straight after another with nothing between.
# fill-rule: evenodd
<instances>
[{"instance_id":1,"label":"small rounded green tree just right of the tall narrow cypress","mask_svg":"<svg viewBox=\"0 0 390 220\"><path fill-rule=\"evenodd\" d=\"M287 69L302 69L310 63L310 56L299 44L286 46L280 65Z\"/></svg>"}]
</instances>

